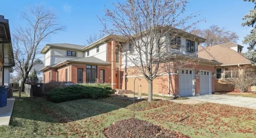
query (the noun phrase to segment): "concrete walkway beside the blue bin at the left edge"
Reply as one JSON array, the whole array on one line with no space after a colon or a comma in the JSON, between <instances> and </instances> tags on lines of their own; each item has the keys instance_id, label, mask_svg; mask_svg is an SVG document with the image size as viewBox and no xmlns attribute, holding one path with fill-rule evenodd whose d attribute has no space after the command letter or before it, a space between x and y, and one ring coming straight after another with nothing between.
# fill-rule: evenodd
<instances>
[{"instance_id":1,"label":"concrete walkway beside the blue bin at the left edge","mask_svg":"<svg viewBox=\"0 0 256 138\"><path fill-rule=\"evenodd\" d=\"M7 99L7 105L0 107L0 126L8 126L12 116L15 99Z\"/></svg>"}]
</instances>

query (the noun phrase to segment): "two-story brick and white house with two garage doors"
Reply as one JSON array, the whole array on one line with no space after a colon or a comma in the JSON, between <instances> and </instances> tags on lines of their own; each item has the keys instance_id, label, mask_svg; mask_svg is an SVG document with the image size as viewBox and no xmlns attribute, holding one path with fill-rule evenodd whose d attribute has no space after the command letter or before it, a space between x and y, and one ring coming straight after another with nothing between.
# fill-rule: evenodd
<instances>
[{"instance_id":1,"label":"two-story brick and white house with two garage doors","mask_svg":"<svg viewBox=\"0 0 256 138\"><path fill-rule=\"evenodd\" d=\"M214 60L199 58L198 45L206 39L191 33L180 31L176 38L179 45L169 47L168 51L176 52L174 63L190 57L196 59L198 65L186 66L170 74L164 74L153 81L153 93L163 95L192 96L211 94L215 91L214 80L215 66L220 64ZM171 32L170 32L171 34ZM116 36L116 35L115 35ZM168 34L169 36L169 34ZM168 36L164 39L168 40ZM112 35L88 45L87 47L72 44L47 44L41 53L45 55L44 83L51 81L63 83L108 83L113 89L134 89L134 79L138 76L141 80L136 83L141 85L143 93L148 92L148 83L141 75L132 74L134 68L127 56L132 50L126 39L118 36L114 41ZM116 43L121 43L120 51ZM170 84L170 85L167 85Z\"/></svg>"}]
</instances>

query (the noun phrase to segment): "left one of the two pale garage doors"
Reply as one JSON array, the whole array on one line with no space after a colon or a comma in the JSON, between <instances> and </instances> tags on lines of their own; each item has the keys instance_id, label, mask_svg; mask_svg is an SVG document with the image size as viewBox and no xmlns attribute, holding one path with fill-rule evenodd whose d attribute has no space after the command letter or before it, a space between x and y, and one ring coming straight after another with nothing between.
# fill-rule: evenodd
<instances>
[{"instance_id":1,"label":"left one of the two pale garage doors","mask_svg":"<svg viewBox=\"0 0 256 138\"><path fill-rule=\"evenodd\" d=\"M179 95L193 96L193 71L182 69L179 77Z\"/></svg>"}]
</instances>

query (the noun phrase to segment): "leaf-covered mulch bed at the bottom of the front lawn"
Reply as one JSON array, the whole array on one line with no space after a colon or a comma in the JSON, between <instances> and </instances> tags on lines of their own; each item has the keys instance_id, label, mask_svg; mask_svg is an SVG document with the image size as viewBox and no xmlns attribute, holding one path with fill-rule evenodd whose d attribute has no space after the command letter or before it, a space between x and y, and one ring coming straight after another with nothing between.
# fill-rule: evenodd
<instances>
[{"instance_id":1,"label":"leaf-covered mulch bed at the bottom of the front lawn","mask_svg":"<svg viewBox=\"0 0 256 138\"><path fill-rule=\"evenodd\" d=\"M190 138L147 121L134 119L134 122L134 138ZM107 138L132 138L132 131L133 119L115 122L103 130Z\"/></svg>"}]
</instances>

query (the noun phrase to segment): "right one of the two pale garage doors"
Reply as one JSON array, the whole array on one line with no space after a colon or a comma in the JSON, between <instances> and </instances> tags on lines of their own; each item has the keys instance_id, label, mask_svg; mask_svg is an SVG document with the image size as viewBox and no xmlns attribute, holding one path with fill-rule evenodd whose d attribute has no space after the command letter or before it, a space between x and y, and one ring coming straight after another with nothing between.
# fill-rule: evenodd
<instances>
[{"instance_id":1,"label":"right one of the two pale garage doors","mask_svg":"<svg viewBox=\"0 0 256 138\"><path fill-rule=\"evenodd\" d=\"M200 75L200 95L202 94L211 94L212 83L211 83L211 72L210 71L201 71Z\"/></svg>"}]
</instances>

